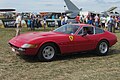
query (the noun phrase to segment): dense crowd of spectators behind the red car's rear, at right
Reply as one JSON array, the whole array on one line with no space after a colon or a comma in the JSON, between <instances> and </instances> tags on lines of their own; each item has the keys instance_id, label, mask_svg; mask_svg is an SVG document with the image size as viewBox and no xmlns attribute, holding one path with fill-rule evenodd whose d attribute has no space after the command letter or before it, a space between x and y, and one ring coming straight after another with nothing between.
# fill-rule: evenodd
<instances>
[{"instance_id":1,"label":"dense crowd of spectators behind the red car's rear, at right","mask_svg":"<svg viewBox=\"0 0 120 80\"><path fill-rule=\"evenodd\" d=\"M94 25L110 32L115 32L116 29L120 32L120 16L88 15L85 17L78 14L75 20L77 23Z\"/></svg>"}]
</instances>

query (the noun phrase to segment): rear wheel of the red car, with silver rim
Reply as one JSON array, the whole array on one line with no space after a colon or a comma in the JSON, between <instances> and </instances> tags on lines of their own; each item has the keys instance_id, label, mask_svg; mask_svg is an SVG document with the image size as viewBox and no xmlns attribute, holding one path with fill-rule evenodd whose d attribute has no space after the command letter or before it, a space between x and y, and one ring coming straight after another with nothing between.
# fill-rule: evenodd
<instances>
[{"instance_id":1,"label":"rear wheel of the red car, with silver rim","mask_svg":"<svg viewBox=\"0 0 120 80\"><path fill-rule=\"evenodd\" d=\"M102 40L98 43L96 53L99 56L105 56L109 51L109 43L106 40Z\"/></svg>"}]
</instances>

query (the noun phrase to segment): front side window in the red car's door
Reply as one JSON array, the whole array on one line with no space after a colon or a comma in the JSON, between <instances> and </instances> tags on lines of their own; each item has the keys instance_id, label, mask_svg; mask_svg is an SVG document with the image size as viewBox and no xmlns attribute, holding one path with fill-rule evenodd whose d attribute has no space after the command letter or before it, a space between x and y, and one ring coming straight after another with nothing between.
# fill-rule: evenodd
<instances>
[{"instance_id":1,"label":"front side window in the red car's door","mask_svg":"<svg viewBox=\"0 0 120 80\"><path fill-rule=\"evenodd\" d=\"M92 34L94 34L94 28L91 26L85 26L79 31L78 35L82 35L83 33L92 35Z\"/></svg>"}]
</instances>

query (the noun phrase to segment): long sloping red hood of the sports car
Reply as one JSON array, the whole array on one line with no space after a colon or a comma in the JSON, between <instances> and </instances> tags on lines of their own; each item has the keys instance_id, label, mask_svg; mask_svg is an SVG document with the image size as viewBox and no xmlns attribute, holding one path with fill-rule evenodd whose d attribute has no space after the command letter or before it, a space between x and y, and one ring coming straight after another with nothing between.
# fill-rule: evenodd
<instances>
[{"instance_id":1,"label":"long sloping red hood of the sports car","mask_svg":"<svg viewBox=\"0 0 120 80\"><path fill-rule=\"evenodd\" d=\"M12 45L16 45L17 47L20 47L21 45L28 43L32 40L39 39L39 38L45 38L45 37L52 37L53 35L59 35L60 33L56 32L30 32L21 34L17 37L12 38L9 43ZM61 35L61 34L60 34Z\"/></svg>"}]
</instances>

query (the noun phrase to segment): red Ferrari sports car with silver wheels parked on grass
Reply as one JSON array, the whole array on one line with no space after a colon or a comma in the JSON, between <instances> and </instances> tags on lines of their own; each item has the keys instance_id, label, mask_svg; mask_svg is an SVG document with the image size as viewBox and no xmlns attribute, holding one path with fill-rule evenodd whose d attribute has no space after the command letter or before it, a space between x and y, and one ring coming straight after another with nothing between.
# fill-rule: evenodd
<instances>
[{"instance_id":1,"label":"red Ferrari sports car with silver wheels parked on grass","mask_svg":"<svg viewBox=\"0 0 120 80\"><path fill-rule=\"evenodd\" d=\"M42 61L51 61L57 54L93 50L107 55L117 37L108 31L88 24L66 24L50 32L21 34L9 41L12 50L24 55L37 55Z\"/></svg>"}]
</instances>

